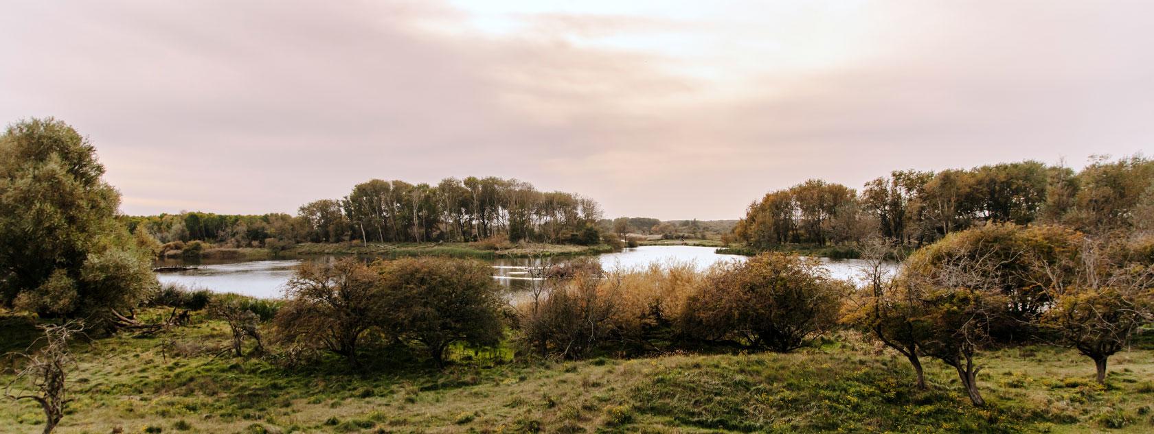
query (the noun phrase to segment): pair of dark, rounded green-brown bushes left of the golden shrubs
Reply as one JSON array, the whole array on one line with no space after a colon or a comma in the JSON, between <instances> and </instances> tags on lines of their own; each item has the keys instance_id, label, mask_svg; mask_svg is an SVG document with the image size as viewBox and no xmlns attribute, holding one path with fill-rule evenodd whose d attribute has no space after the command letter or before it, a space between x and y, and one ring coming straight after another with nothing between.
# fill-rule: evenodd
<instances>
[{"instance_id":1,"label":"pair of dark, rounded green-brown bushes left of the golden shrubs","mask_svg":"<svg viewBox=\"0 0 1154 434\"><path fill-rule=\"evenodd\" d=\"M503 333L499 285L475 260L306 262L286 287L276 341L293 351L327 350L353 366L369 340L418 344L443 366L449 345L495 345Z\"/></svg>"}]
</instances>

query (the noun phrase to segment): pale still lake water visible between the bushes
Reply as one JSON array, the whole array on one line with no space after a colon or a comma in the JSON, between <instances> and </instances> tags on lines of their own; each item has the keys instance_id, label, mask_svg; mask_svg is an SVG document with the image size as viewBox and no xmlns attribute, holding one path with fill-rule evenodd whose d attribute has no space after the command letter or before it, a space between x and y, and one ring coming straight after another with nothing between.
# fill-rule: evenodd
<instances>
[{"instance_id":1,"label":"pale still lake water visible between the bushes","mask_svg":"<svg viewBox=\"0 0 1154 434\"><path fill-rule=\"evenodd\" d=\"M625 249L616 253L605 253L598 257L606 271L646 267L650 264L691 264L698 269L705 269L719 261L743 261L745 257L737 254L718 254L714 248L688 245L653 245ZM258 260L234 264L200 265L196 269L183 272L157 273L160 283L179 283L188 288L203 288L217 292L237 292L262 298L282 297L284 284L292 277L293 271L302 260L328 260L331 257L287 260ZM853 279L861 260L822 259L825 268L834 279ZM497 259L493 265L493 276L510 291L525 288L532 279L523 267L530 265L530 259ZM891 265L896 268L897 265Z\"/></svg>"}]
</instances>

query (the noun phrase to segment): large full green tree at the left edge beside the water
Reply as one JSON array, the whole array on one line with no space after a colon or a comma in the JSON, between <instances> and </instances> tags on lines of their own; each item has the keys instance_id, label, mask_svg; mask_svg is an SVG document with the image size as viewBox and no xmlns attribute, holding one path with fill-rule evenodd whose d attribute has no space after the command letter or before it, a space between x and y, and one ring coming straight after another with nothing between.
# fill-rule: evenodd
<instances>
[{"instance_id":1,"label":"large full green tree at the left edge beside the water","mask_svg":"<svg viewBox=\"0 0 1154 434\"><path fill-rule=\"evenodd\" d=\"M156 285L103 175L63 122L32 119L0 136L0 305L99 322Z\"/></svg>"}]
</instances>

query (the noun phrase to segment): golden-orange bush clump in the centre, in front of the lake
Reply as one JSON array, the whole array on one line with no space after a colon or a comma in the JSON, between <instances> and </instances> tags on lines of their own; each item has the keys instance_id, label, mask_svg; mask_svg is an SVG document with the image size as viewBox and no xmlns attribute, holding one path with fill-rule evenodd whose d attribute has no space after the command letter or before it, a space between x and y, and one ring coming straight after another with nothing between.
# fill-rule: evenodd
<instances>
[{"instance_id":1,"label":"golden-orange bush clump in the centre, in front of the lake","mask_svg":"<svg viewBox=\"0 0 1154 434\"><path fill-rule=\"evenodd\" d=\"M690 265L601 272L567 265L542 297L516 305L527 353L583 358L703 347L793 351L837 320L848 287L815 259L763 253L707 272Z\"/></svg>"}]
</instances>

